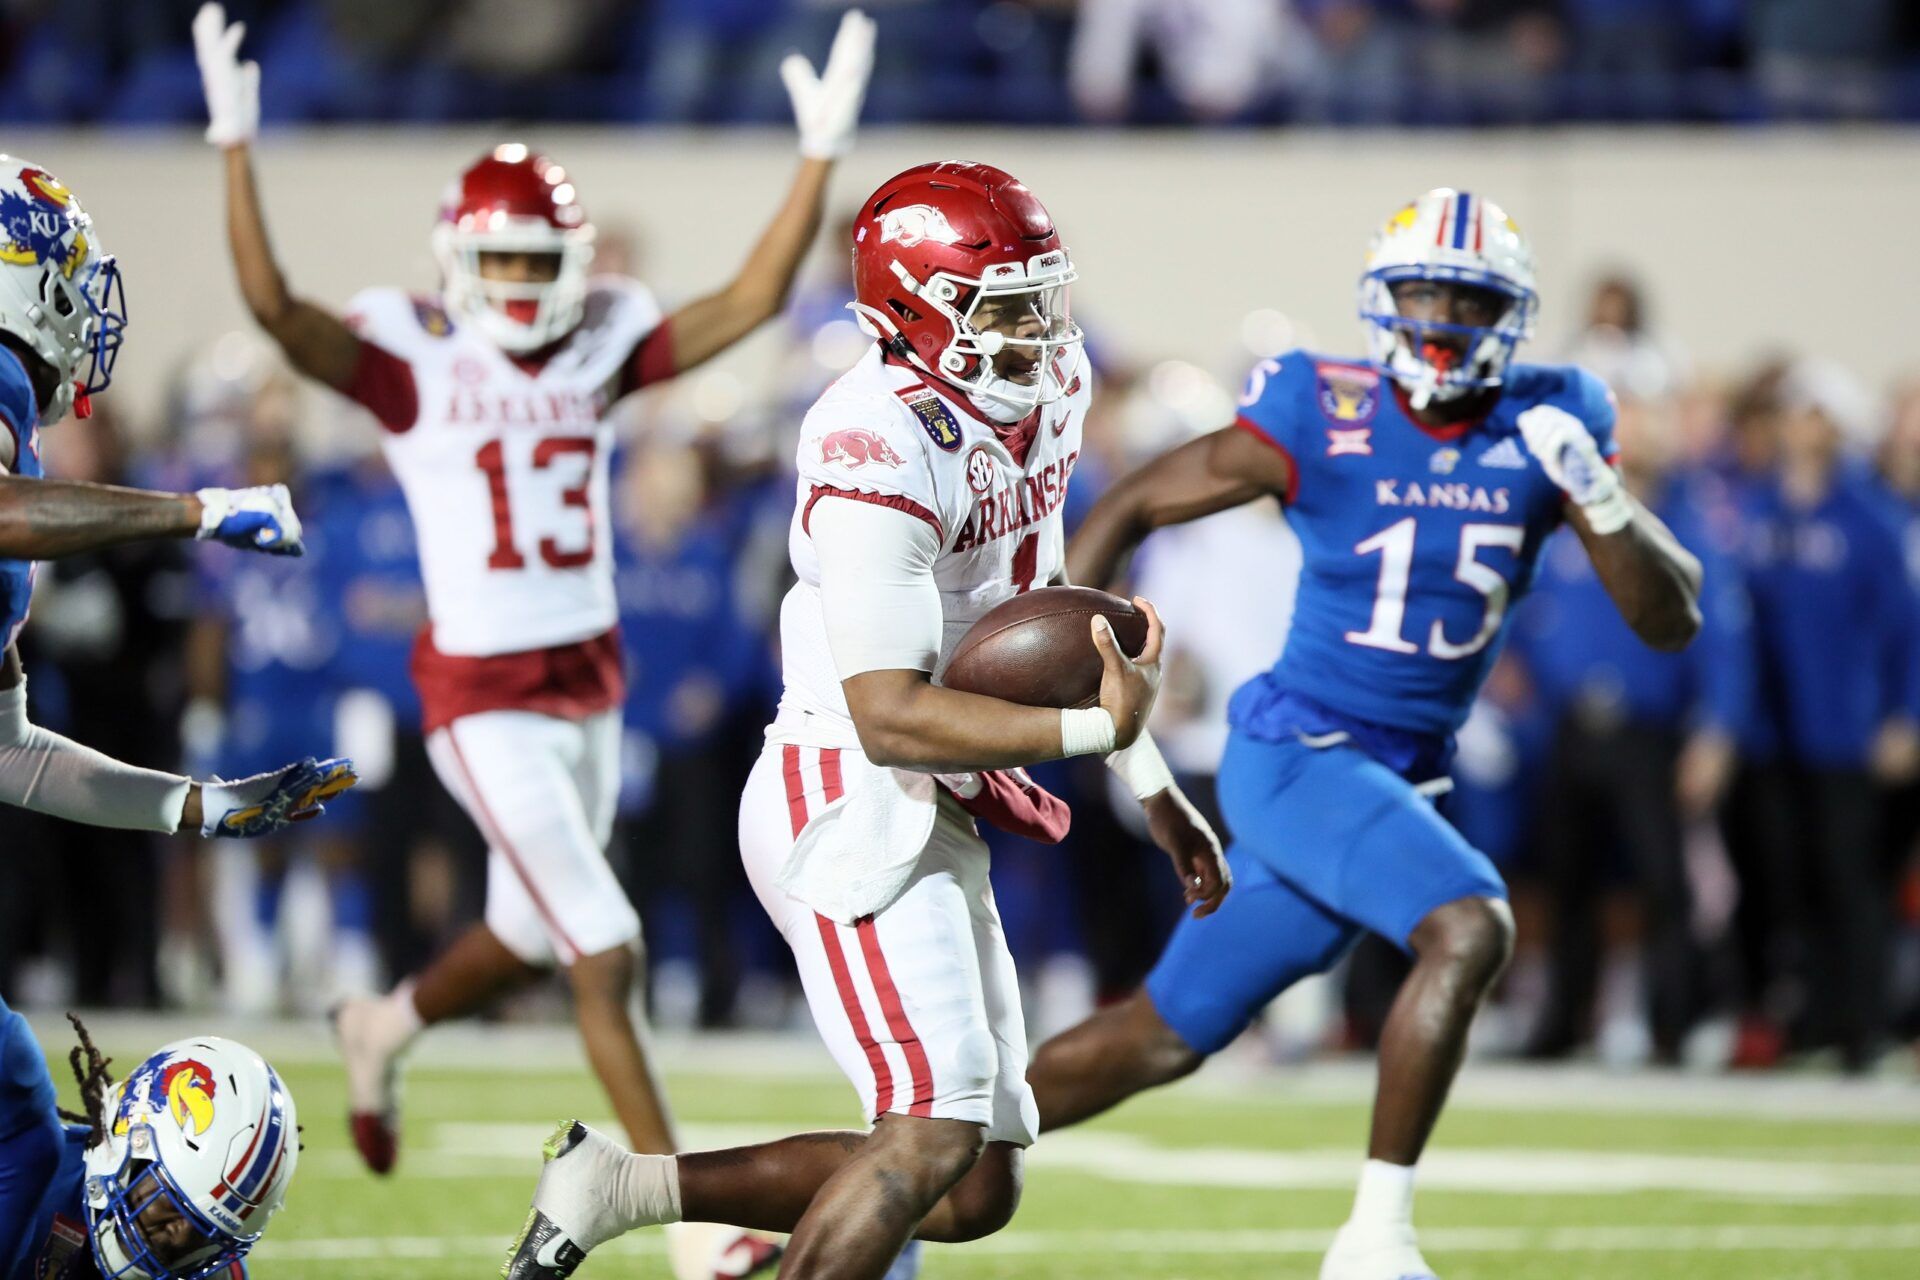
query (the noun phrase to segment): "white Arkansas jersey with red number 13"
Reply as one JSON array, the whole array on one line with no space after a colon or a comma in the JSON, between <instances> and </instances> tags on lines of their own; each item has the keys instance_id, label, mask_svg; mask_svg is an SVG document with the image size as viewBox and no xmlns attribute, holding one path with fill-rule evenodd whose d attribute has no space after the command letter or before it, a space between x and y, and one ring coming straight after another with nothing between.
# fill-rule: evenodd
<instances>
[{"instance_id":1,"label":"white Arkansas jersey with red number 13","mask_svg":"<svg viewBox=\"0 0 1920 1280\"><path fill-rule=\"evenodd\" d=\"M434 649L493 656L612 629L605 416L660 324L653 296L595 278L580 328L526 368L438 299L367 290L349 317L413 374L415 418L382 445L413 512Z\"/></svg>"}]
</instances>

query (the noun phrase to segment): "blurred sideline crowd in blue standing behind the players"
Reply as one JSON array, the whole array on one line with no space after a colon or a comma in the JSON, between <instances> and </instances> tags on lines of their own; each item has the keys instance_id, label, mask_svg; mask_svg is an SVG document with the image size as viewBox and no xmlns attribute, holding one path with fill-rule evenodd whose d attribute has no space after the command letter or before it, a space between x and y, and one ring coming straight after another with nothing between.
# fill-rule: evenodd
<instances>
[{"instance_id":1,"label":"blurred sideline crowd in blue standing behind the players","mask_svg":"<svg viewBox=\"0 0 1920 1280\"><path fill-rule=\"evenodd\" d=\"M601 265L622 267L622 244L607 236ZM703 370L620 407L632 695L612 860L666 1025L804 1019L733 814L780 685L793 432L866 342L845 299L843 280L799 292L764 391ZM1315 340L1256 313L1244 349L1200 368L1114 349L1098 315L1081 319L1100 390L1069 528L1125 468L1229 422L1248 365ZM1799 353L1693 368L1628 274L1597 278L1571 344L1528 355L1615 388L1632 489L1707 566L1707 628L1684 654L1651 652L1571 533L1546 551L1444 800L1521 917L1480 1048L1705 1069L1816 1052L1868 1069L1920 1034L1920 382L1866 388ZM75 480L286 480L309 553L136 543L48 566L21 637L36 722L228 777L342 752L363 783L263 852L0 810L0 848L44 852L0 860L0 990L315 1013L415 969L478 913L484 858L417 729L407 654L424 604L371 422L234 334L179 370L146 447L111 393L44 441L48 472ZM1277 656L1296 566L1273 503L1158 533L1133 564L1169 620L1156 735L1202 804L1227 695ZM1098 762L1035 773L1073 802L1073 833L1062 848L998 839L995 887L1050 1031L1140 981L1179 892ZM1275 1006L1258 1042L1277 1057L1369 1044L1400 963L1365 944Z\"/></svg>"}]
</instances>

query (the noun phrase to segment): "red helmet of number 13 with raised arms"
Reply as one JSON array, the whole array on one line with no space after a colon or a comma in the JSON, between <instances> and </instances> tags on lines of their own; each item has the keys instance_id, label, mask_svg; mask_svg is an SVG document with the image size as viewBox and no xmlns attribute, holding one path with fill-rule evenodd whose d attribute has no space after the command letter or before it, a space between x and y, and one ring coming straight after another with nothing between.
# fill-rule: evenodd
<instances>
[{"instance_id":1,"label":"red helmet of number 13 with raised arms","mask_svg":"<svg viewBox=\"0 0 1920 1280\"><path fill-rule=\"evenodd\" d=\"M490 280L482 253L551 253L551 280ZM505 351L536 351L580 322L593 225L566 171L518 142L493 148L455 180L434 226L447 309Z\"/></svg>"}]
</instances>

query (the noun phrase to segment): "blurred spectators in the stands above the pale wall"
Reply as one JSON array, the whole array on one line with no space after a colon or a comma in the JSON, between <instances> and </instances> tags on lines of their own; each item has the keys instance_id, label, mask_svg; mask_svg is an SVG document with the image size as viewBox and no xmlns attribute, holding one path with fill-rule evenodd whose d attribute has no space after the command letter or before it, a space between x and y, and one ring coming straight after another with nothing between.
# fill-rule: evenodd
<instances>
[{"instance_id":1,"label":"blurred spectators in the stands above the pale wall","mask_svg":"<svg viewBox=\"0 0 1920 1280\"><path fill-rule=\"evenodd\" d=\"M1901 0L862 0L868 121L1920 119ZM198 123L198 0L0 0L0 123ZM787 121L847 0L234 0L267 121Z\"/></svg>"}]
</instances>

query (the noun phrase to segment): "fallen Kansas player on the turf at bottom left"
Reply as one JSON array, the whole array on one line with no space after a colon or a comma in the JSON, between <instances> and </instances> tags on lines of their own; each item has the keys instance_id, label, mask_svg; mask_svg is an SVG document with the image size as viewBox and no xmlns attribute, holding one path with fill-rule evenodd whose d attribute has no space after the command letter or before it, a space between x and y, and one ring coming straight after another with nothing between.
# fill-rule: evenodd
<instances>
[{"instance_id":1,"label":"fallen Kansas player on the turf at bottom left","mask_svg":"<svg viewBox=\"0 0 1920 1280\"><path fill-rule=\"evenodd\" d=\"M0 1000L0 1280L246 1280L300 1161L280 1077L200 1036L115 1082L73 1027L83 1113L58 1107L27 1019Z\"/></svg>"}]
</instances>

